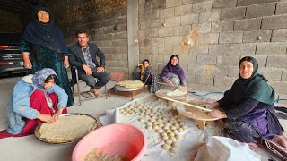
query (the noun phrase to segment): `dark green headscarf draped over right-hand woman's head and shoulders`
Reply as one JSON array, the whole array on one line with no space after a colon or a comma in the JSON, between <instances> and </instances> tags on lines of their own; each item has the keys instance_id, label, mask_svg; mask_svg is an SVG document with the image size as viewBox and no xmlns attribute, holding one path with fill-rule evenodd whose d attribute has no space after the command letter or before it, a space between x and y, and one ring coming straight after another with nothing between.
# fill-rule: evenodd
<instances>
[{"instance_id":1,"label":"dark green headscarf draped over right-hand woman's head and shoulders","mask_svg":"<svg viewBox=\"0 0 287 161\"><path fill-rule=\"evenodd\" d=\"M275 91L267 84L268 80L266 80L263 75L257 73L257 60L251 56L243 57L239 65L243 61L248 61L253 64L252 75L248 79L243 79L239 73L239 79L234 82L229 91L230 99L232 99L232 102L236 105L241 104L249 97L259 102L272 105L274 103Z\"/></svg>"}]
</instances>

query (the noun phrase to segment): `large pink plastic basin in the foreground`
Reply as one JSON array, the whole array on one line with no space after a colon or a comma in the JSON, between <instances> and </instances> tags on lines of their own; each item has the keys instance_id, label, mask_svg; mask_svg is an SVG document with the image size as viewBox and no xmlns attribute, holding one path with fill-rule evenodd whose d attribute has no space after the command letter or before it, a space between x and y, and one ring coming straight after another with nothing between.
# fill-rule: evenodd
<instances>
[{"instance_id":1,"label":"large pink plastic basin in the foreground","mask_svg":"<svg viewBox=\"0 0 287 161\"><path fill-rule=\"evenodd\" d=\"M104 153L120 155L139 161L147 142L142 130L128 123L114 123L91 131L74 148L72 160L83 161L92 150L100 148Z\"/></svg>"}]
</instances>

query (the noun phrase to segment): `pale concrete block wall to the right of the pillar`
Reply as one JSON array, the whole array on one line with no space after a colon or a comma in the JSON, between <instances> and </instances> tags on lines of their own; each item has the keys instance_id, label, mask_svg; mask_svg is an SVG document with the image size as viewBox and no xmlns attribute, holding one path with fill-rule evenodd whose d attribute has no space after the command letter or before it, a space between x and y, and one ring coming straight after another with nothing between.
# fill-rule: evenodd
<instances>
[{"instance_id":1,"label":"pale concrete block wall to the right of the pillar","mask_svg":"<svg viewBox=\"0 0 287 161\"><path fill-rule=\"evenodd\" d=\"M286 20L283 0L139 0L139 59L161 72L178 54L187 86L223 91L238 78L239 59L251 55L286 95Z\"/></svg>"}]
</instances>

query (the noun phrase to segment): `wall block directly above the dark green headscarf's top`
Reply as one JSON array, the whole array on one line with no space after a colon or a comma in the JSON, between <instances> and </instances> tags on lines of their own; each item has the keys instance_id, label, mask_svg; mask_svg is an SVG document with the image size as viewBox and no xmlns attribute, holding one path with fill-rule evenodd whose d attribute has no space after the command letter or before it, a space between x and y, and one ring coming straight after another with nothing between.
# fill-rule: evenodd
<instances>
[{"instance_id":1,"label":"wall block directly above the dark green headscarf's top","mask_svg":"<svg viewBox=\"0 0 287 161\"><path fill-rule=\"evenodd\" d=\"M256 44L233 44L230 55L255 55L256 47Z\"/></svg>"}]
</instances>

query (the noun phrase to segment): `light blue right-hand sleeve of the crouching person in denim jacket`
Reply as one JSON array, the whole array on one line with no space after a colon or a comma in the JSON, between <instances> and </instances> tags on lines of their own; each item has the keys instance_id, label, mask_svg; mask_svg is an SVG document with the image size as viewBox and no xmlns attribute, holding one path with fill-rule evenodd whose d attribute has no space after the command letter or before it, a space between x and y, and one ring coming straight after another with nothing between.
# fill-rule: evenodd
<instances>
[{"instance_id":1,"label":"light blue right-hand sleeve of the crouching person in denim jacket","mask_svg":"<svg viewBox=\"0 0 287 161\"><path fill-rule=\"evenodd\" d=\"M53 89L53 91L57 95L57 107L65 108L68 102L68 95L65 93L65 90L60 88L57 84L54 84L51 89ZM49 90L49 92L51 91Z\"/></svg>"}]
</instances>

